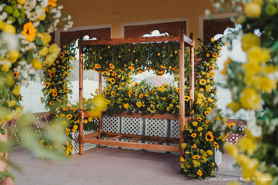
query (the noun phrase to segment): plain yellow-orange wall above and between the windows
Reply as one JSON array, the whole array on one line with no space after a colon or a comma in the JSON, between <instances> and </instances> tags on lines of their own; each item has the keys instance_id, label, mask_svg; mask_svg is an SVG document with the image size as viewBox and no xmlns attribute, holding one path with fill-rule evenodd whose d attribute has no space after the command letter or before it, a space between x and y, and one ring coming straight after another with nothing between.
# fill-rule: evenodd
<instances>
[{"instance_id":1,"label":"plain yellow-orange wall above and between the windows","mask_svg":"<svg viewBox=\"0 0 278 185\"><path fill-rule=\"evenodd\" d=\"M199 37L198 16L212 10L209 0L59 0L71 15L73 27L112 24L112 38L120 38L120 23L188 17L188 33ZM120 13L120 14L115 14Z\"/></svg>"}]
</instances>

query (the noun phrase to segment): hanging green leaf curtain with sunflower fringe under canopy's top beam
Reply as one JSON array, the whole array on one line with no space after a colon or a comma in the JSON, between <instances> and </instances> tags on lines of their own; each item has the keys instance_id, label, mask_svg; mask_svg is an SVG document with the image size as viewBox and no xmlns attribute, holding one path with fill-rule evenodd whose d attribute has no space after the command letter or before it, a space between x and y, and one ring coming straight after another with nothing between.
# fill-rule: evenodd
<instances>
[{"instance_id":1,"label":"hanging green leaf curtain with sunflower fringe under canopy's top beam","mask_svg":"<svg viewBox=\"0 0 278 185\"><path fill-rule=\"evenodd\" d=\"M83 48L84 69L101 72L142 73L178 75L179 43L135 43L116 45L93 45Z\"/></svg>"}]
</instances>

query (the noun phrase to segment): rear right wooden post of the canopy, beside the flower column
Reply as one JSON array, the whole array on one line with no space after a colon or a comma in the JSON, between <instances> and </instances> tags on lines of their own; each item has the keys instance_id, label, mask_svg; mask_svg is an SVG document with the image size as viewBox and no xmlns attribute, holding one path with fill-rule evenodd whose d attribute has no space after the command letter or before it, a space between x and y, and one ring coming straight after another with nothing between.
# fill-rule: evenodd
<instances>
[{"instance_id":1,"label":"rear right wooden post of the canopy, beside the flower column","mask_svg":"<svg viewBox=\"0 0 278 185\"><path fill-rule=\"evenodd\" d=\"M189 35L190 39L194 39L194 35L191 32ZM192 72L190 73L190 86L189 86L189 95L192 101L189 102L189 110L193 110L194 105L194 46L190 46L190 67L192 68Z\"/></svg>"}]
</instances>

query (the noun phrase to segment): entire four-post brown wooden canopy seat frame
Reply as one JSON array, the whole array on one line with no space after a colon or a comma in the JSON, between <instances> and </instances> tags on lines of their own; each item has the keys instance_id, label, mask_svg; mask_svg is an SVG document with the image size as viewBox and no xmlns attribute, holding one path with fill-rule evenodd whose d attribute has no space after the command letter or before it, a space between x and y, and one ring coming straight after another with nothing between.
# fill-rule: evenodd
<instances>
[{"instance_id":1,"label":"entire four-post brown wooden canopy seat frame","mask_svg":"<svg viewBox=\"0 0 278 185\"><path fill-rule=\"evenodd\" d=\"M138 148L138 149L149 149L149 150L161 150L161 151L170 151L170 152L179 152L180 157L183 157L185 151L181 148L181 144L184 143L184 127L185 123L188 123L193 119L193 117L185 117L185 87L184 87L184 46L185 43L190 47L190 66L192 67L192 72L190 73L190 98L193 101L189 102L190 111L193 110L194 104L194 35L190 34L188 38L184 33L184 29L179 28L178 35L168 35L168 36L157 36L157 37L132 37L132 38L116 38L116 39L100 39L100 40L83 40L83 34L79 35L79 154L83 154L83 143L92 143L100 145L109 145L117 147L129 147L129 148ZM135 134L123 134L123 133L111 133L103 132L102 130L102 115L99 116L98 130L92 134L83 134L83 119L84 117L90 117L93 115L93 112L83 112L83 46L86 45L107 45L107 44L127 44L127 43L142 43L142 42L165 42L165 41L178 41L180 45L179 49L179 106L180 106L180 115L178 118L172 116L171 114L147 114L139 115L136 113L127 113L120 114L118 116L128 116L128 117L144 117L144 118L159 118L159 119L176 119L179 120L180 128L180 138L170 138L170 137L155 137L155 136L145 136L145 135L135 135ZM99 74L99 85L98 85L98 94L102 95L102 78ZM101 139L102 136L111 137L107 140ZM97 137L97 138L95 138ZM131 139L130 142L116 141L118 138ZM147 143L137 143L140 140L154 141L154 144ZM163 143L175 143L179 146L169 146L162 145Z\"/></svg>"}]
</instances>

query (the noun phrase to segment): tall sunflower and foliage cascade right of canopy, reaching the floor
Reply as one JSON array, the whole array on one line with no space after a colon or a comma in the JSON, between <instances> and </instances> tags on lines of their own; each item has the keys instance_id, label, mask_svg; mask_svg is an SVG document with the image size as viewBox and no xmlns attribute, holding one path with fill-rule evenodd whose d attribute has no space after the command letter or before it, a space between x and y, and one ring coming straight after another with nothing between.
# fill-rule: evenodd
<instances>
[{"instance_id":1,"label":"tall sunflower and foliage cascade right of canopy, reaching the floor","mask_svg":"<svg viewBox=\"0 0 278 185\"><path fill-rule=\"evenodd\" d=\"M198 80L195 81L195 106L193 116L195 120L185 124L185 143L182 147L186 150L185 158L180 158L181 171L189 177L214 176L215 159L212 156L214 149L223 152L223 144L228 136L221 135L219 130L213 127L219 121L226 123L226 118L220 111L215 111L217 105L217 89L214 82L214 70L217 69L217 58L220 55L223 44L220 40L214 41L213 38L203 43L197 39L199 46L197 48L198 57L202 58L195 66ZM214 111L213 111L214 110ZM229 125L231 127L232 125Z\"/></svg>"}]
</instances>

